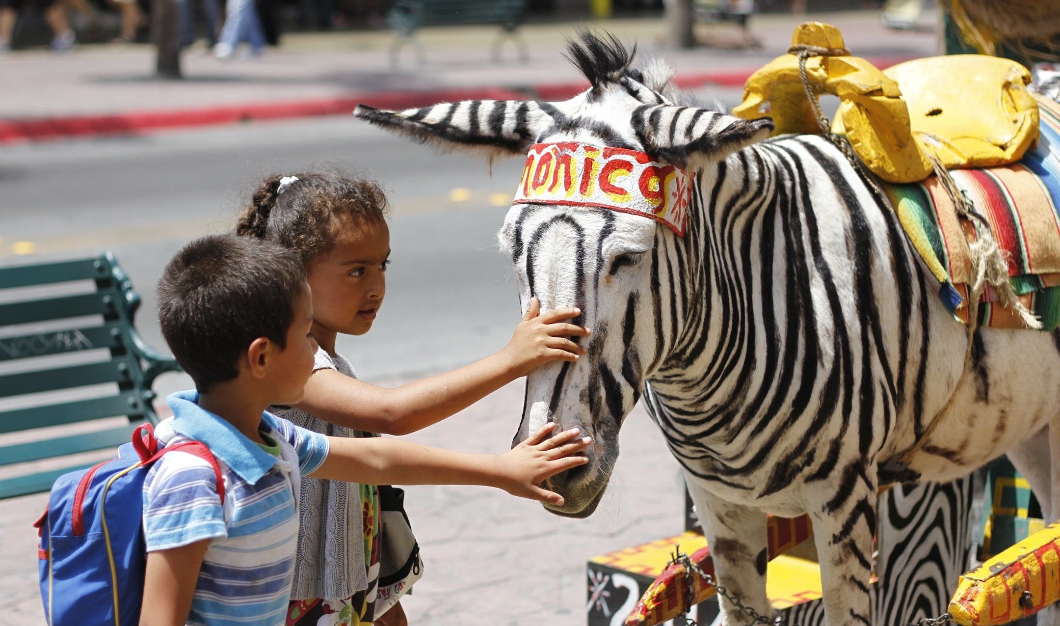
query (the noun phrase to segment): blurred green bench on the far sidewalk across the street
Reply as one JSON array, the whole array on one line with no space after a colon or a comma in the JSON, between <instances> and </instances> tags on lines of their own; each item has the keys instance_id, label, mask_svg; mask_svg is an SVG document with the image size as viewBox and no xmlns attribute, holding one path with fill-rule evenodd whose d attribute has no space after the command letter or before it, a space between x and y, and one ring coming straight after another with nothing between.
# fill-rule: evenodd
<instances>
[{"instance_id":1,"label":"blurred green bench on the far sidewalk across the street","mask_svg":"<svg viewBox=\"0 0 1060 626\"><path fill-rule=\"evenodd\" d=\"M515 42L519 59L530 58L526 42L517 29L526 15L528 0L396 0L387 15L387 23L394 31L390 47L390 65L398 67L402 46L410 44L420 65L426 63L423 47L416 38L420 27L458 24L497 24L500 33L493 42L493 60L500 60L500 46L505 38Z\"/></svg>"}]
</instances>

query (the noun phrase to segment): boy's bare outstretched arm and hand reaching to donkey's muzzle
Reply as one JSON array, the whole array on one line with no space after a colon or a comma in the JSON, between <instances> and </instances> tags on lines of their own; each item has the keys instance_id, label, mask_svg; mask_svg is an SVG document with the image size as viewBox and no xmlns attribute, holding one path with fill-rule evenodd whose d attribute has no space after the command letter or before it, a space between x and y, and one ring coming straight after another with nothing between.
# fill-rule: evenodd
<instances>
[{"instance_id":1,"label":"boy's bare outstretched arm and hand reaching to donkey's muzzle","mask_svg":"<svg viewBox=\"0 0 1060 626\"><path fill-rule=\"evenodd\" d=\"M553 430L555 424L547 423L500 456L382 437L328 437L328 458L310 475L363 485L484 485L560 506L563 498L541 484L585 465L587 458L571 455L588 446L589 438L579 438L578 429L549 438Z\"/></svg>"}]
</instances>

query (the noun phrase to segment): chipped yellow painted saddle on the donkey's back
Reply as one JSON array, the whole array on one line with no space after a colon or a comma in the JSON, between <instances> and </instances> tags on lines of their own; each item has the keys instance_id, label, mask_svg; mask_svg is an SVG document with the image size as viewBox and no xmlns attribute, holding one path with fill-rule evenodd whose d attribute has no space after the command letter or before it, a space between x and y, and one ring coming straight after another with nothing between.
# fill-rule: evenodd
<instances>
[{"instance_id":1,"label":"chipped yellow painted saddle on the donkey's back","mask_svg":"<svg viewBox=\"0 0 1060 626\"><path fill-rule=\"evenodd\" d=\"M838 29L822 22L797 27L792 45L845 48ZM1038 104L1026 90L1030 72L1012 60L936 56L881 71L856 56L813 56L806 69L815 93L840 99L832 132L845 135L862 162L888 182L929 177L929 156L951 169L1011 163L1038 138ZM773 118L775 135L820 132L794 54L755 72L732 112Z\"/></svg>"}]
</instances>

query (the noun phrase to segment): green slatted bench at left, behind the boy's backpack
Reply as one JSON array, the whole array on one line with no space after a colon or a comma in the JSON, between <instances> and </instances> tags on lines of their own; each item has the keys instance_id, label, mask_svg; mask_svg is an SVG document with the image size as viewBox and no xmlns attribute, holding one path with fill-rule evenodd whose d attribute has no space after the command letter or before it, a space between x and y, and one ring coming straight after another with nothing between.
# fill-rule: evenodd
<instances>
[{"instance_id":1,"label":"green slatted bench at left, behind the boy's backpack","mask_svg":"<svg viewBox=\"0 0 1060 626\"><path fill-rule=\"evenodd\" d=\"M2 294L12 301L0 303L0 499L47 491L91 465L86 453L106 458L137 424L157 422L152 383L179 370L134 327L140 296L110 253L0 267Z\"/></svg>"}]
</instances>

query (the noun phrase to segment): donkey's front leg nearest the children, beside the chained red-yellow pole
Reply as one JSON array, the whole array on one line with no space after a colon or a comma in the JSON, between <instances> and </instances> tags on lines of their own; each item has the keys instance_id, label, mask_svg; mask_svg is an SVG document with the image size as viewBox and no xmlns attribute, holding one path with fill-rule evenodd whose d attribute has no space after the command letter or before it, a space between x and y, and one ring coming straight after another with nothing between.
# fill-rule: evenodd
<instances>
[{"instance_id":1,"label":"donkey's front leg nearest the children, beside the chained red-yellow pole","mask_svg":"<svg viewBox=\"0 0 1060 626\"><path fill-rule=\"evenodd\" d=\"M694 476L688 476L688 492L710 546L718 584L744 606L772 620L773 606L765 596L765 514L717 498L696 486ZM726 626L753 623L728 599L720 601Z\"/></svg>"}]
</instances>

